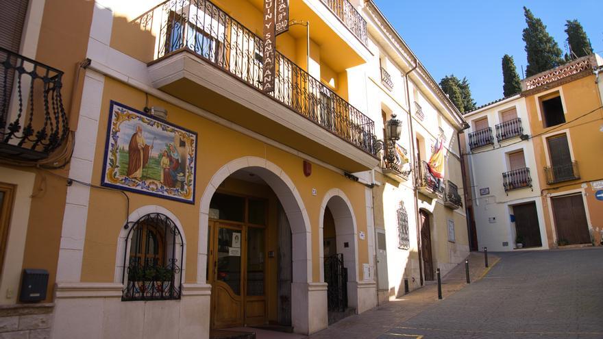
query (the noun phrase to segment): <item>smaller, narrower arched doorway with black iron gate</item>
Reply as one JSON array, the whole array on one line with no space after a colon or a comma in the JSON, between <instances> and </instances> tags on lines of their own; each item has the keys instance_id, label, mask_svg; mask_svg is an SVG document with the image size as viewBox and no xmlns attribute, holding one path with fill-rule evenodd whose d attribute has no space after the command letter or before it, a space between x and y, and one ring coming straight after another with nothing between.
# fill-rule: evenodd
<instances>
[{"instance_id":1,"label":"smaller, narrower arched doorway with black iron gate","mask_svg":"<svg viewBox=\"0 0 603 339\"><path fill-rule=\"evenodd\" d=\"M352 205L340 190L330 190L321 210L321 275L328 284L329 324L358 307L358 250Z\"/></svg>"}]
</instances>

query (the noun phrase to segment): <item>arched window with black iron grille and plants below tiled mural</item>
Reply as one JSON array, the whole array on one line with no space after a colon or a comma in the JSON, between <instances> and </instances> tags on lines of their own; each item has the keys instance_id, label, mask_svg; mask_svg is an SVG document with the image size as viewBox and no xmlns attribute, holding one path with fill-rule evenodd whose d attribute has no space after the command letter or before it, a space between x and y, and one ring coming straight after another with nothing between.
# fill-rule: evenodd
<instances>
[{"instance_id":1,"label":"arched window with black iron grille and plants below tiled mural","mask_svg":"<svg viewBox=\"0 0 603 339\"><path fill-rule=\"evenodd\" d=\"M164 214L146 214L127 233L121 300L180 299L182 235Z\"/></svg>"}]
</instances>

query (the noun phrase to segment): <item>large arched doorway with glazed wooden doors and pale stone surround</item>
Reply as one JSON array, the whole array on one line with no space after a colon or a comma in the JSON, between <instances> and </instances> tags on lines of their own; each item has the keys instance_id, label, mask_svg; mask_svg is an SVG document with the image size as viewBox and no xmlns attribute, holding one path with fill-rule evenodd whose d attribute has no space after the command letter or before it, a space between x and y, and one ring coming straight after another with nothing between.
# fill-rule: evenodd
<instances>
[{"instance_id":1,"label":"large arched doorway with glazed wooden doors and pale stone surround","mask_svg":"<svg viewBox=\"0 0 603 339\"><path fill-rule=\"evenodd\" d=\"M249 157L214 175L201 199L207 238L199 249L213 328L275 323L307 331L309 229L302 199L278 166Z\"/></svg>"}]
</instances>

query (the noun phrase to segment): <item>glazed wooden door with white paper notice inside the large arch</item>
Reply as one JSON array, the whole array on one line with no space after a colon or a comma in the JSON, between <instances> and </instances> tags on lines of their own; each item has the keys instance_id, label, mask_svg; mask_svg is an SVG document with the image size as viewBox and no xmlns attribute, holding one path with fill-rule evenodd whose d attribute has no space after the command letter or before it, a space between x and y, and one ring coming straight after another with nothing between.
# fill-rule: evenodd
<instances>
[{"instance_id":1,"label":"glazed wooden door with white paper notice inside the large arch","mask_svg":"<svg viewBox=\"0 0 603 339\"><path fill-rule=\"evenodd\" d=\"M214 223L212 328L243 326L243 229Z\"/></svg>"}]
</instances>

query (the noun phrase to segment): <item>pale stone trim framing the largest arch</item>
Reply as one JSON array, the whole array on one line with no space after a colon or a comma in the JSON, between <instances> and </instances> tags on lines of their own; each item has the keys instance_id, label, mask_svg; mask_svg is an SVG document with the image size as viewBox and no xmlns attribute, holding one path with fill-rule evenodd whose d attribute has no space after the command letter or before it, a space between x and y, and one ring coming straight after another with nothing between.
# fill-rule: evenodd
<instances>
[{"instance_id":1,"label":"pale stone trim framing the largest arch","mask_svg":"<svg viewBox=\"0 0 603 339\"><path fill-rule=\"evenodd\" d=\"M197 251L197 283L206 282L207 265L207 231L210 202L222 181L232 173L245 168L246 171L261 177L272 188L278 197L291 225L293 242L293 282L308 283L312 281L312 253L310 239L310 218L291 178L272 162L258 157L244 157L222 166L210 180L201 196L199 216L199 249Z\"/></svg>"}]
</instances>

